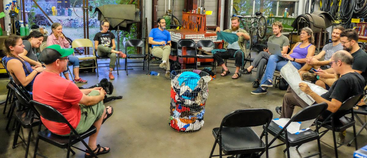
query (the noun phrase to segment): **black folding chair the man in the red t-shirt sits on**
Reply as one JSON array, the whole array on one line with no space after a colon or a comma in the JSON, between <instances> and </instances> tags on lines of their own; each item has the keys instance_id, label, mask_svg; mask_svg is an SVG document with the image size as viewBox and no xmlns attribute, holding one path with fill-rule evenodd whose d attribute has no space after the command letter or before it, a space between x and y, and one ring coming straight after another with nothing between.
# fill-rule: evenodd
<instances>
[{"instance_id":1,"label":"black folding chair the man in the red t-shirt sits on","mask_svg":"<svg viewBox=\"0 0 367 158\"><path fill-rule=\"evenodd\" d=\"M71 147L92 154L95 158L97 158L97 155L95 155L95 153L92 152L91 148L84 141L84 139L97 132L97 129L94 126L91 126L86 132L78 134L76 130L73 128L73 126L70 125L69 121L66 120L66 118L56 109L34 100L31 100L29 103L33 104L33 107L36 109L38 114L42 116L44 119L53 122L66 123L66 125L68 125L70 128L70 136L59 136L57 134L52 133L48 129L41 131L42 124L40 124L38 128L38 137L36 140L36 145L34 147L34 158L36 157L36 155L45 157L44 155L37 153L38 142L40 139L59 148L67 148L68 149L67 151L68 153L66 156L67 158L69 158L70 156L70 151L72 152L73 155L75 154L75 152L71 149ZM88 151L73 146L79 141L81 141L84 144L84 146L87 148Z\"/></svg>"}]
</instances>

